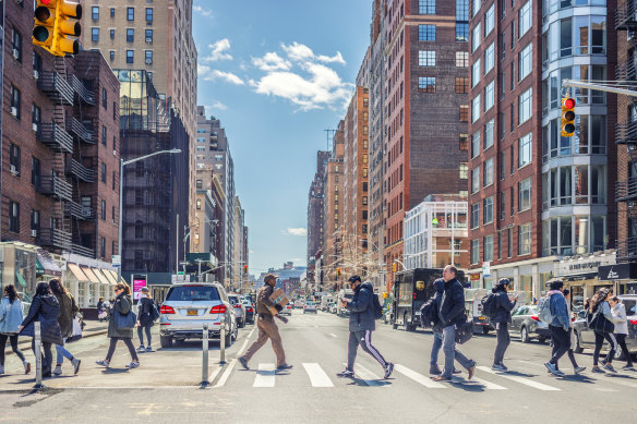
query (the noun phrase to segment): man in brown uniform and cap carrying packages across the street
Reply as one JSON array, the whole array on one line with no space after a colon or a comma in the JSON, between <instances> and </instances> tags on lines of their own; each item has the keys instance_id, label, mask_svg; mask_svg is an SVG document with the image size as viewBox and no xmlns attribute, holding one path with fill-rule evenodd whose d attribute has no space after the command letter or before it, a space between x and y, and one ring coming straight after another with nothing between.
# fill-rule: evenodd
<instances>
[{"instance_id":1,"label":"man in brown uniform and cap carrying packages across the street","mask_svg":"<svg viewBox=\"0 0 637 424\"><path fill-rule=\"evenodd\" d=\"M250 370L248 362L254 353L265 344L267 339L272 340L272 349L276 354L276 370L285 371L292 367L292 365L286 362L286 352L284 350L281 336L279 335L278 327L274 322L274 316L269 312L269 307L276 308L277 312L283 311L280 304L273 303L269 300L269 296L274 292L277 278L278 276L275 276L274 274L268 274L263 278L265 284L263 284L256 296L256 313L259 314L256 328L259 328L259 336L250 349L238 359L244 370Z\"/></svg>"}]
</instances>

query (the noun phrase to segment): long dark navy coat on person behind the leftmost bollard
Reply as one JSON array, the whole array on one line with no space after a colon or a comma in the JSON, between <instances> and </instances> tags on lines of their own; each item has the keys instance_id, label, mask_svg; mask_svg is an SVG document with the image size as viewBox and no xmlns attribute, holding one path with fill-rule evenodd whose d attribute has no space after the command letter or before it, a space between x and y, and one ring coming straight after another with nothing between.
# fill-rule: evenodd
<instances>
[{"instance_id":1,"label":"long dark navy coat on person behind the leftmost bollard","mask_svg":"<svg viewBox=\"0 0 637 424\"><path fill-rule=\"evenodd\" d=\"M20 336L35 337L35 322L40 323L40 338L55 344L64 344L58 317L60 316L60 303L52 294L36 295L33 298L26 318L22 322L24 327Z\"/></svg>"}]
</instances>

